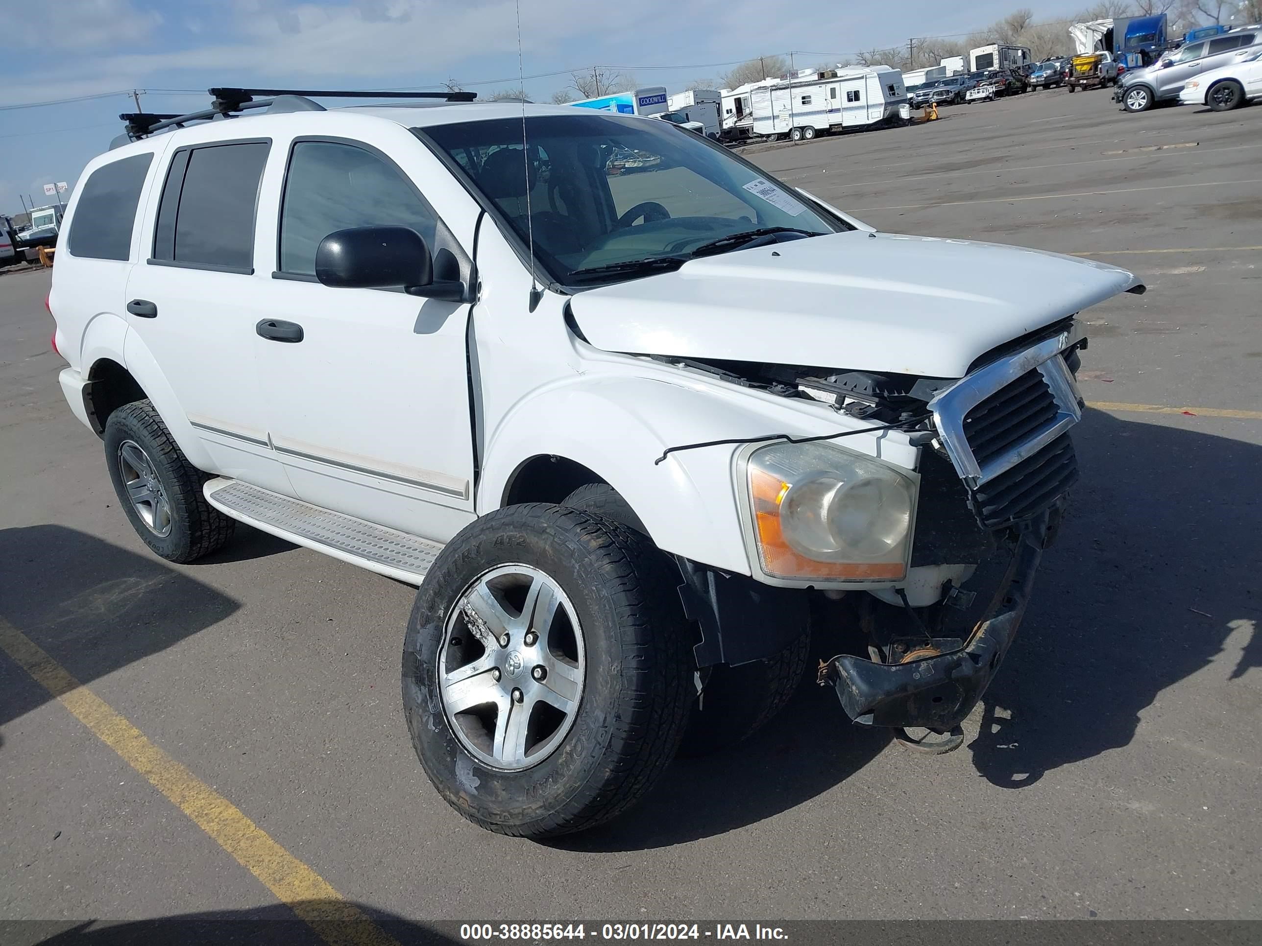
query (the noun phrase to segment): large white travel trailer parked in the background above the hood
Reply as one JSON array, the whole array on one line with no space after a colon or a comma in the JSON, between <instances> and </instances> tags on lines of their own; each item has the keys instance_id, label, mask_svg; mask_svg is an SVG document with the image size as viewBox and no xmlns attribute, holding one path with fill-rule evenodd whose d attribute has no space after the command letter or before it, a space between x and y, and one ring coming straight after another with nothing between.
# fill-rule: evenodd
<instances>
[{"instance_id":1,"label":"large white travel trailer parked in the background above the hood","mask_svg":"<svg viewBox=\"0 0 1262 946\"><path fill-rule=\"evenodd\" d=\"M798 76L755 88L751 101L755 135L793 141L909 115L902 73L887 66Z\"/></svg>"}]
</instances>

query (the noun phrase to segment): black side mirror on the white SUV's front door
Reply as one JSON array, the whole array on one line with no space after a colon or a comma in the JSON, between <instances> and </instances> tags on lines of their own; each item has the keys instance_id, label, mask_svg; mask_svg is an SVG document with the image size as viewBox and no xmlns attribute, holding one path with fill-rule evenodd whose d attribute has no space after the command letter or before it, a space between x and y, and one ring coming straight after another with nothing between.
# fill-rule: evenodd
<instances>
[{"instance_id":1,"label":"black side mirror on the white SUV's front door","mask_svg":"<svg viewBox=\"0 0 1262 946\"><path fill-rule=\"evenodd\" d=\"M394 289L447 301L464 300L463 283L435 283L434 259L410 227L351 227L321 240L316 279L339 289Z\"/></svg>"}]
</instances>

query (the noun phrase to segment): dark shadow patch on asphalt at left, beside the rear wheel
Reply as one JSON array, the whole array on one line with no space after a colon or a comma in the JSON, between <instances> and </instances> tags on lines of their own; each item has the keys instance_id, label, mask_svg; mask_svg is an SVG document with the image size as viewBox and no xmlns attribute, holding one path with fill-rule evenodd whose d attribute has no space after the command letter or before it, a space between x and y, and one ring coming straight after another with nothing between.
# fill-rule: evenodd
<instances>
[{"instance_id":1,"label":"dark shadow patch on asphalt at left, beside the rear wheel","mask_svg":"<svg viewBox=\"0 0 1262 946\"><path fill-rule=\"evenodd\" d=\"M64 526L0 530L0 618L82 684L165 650L240 607L160 561ZM0 651L0 661L8 660ZM23 674L13 663L8 672ZM0 687L0 724L49 699L29 679Z\"/></svg>"}]
</instances>

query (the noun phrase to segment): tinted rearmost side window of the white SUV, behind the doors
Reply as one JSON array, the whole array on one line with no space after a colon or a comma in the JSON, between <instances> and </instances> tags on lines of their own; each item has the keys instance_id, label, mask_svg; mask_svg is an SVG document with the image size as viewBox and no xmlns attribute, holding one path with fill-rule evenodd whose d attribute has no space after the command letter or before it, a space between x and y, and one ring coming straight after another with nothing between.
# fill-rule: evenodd
<instances>
[{"instance_id":1,"label":"tinted rearmost side window of the white SUV, behind the doors","mask_svg":"<svg viewBox=\"0 0 1262 946\"><path fill-rule=\"evenodd\" d=\"M71 223L71 256L126 260L131 256L131 231L136 206L145 187L151 154L134 154L103 164L88 175L80 192Z\"/></svg>"}]
</instances>

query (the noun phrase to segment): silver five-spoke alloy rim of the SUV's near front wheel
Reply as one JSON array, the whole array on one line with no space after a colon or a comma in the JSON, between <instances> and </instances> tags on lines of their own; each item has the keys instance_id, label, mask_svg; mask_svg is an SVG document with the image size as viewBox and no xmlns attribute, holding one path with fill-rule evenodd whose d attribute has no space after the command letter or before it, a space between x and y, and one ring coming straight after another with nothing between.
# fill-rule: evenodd
<instances>
[{"instance_id":1,"label":"silver five-spoke alloy rim of the SUV's near front wheel","mask_svg":"<svg viewBox=\"0 0 1262 946\"><path fill-rule=\"evenodd\" d=\"M584 676L578 616L531 565L483 573L447 618L443 711L464 749L491 768L520 771L551 756L574 725Z\"/></svg>"}]
</instances>

